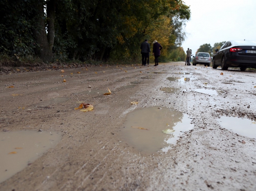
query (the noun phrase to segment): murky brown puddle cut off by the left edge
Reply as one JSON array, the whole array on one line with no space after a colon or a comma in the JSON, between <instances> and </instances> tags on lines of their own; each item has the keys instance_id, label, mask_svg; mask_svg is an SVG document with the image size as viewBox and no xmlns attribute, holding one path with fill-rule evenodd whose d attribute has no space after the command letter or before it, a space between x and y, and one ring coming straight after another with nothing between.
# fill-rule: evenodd
<instances>
[{"instance_id":1,"label":"murky brown puddle cut off by the left edge","mask_svg":"<svg viewBox=\"0 0 256 191\"><path fill-rule=\"evenodd\" d=\"M60 140L61 135L54 132L0 132L0 182L30 165Z\"/></svg>"}]
</instances>

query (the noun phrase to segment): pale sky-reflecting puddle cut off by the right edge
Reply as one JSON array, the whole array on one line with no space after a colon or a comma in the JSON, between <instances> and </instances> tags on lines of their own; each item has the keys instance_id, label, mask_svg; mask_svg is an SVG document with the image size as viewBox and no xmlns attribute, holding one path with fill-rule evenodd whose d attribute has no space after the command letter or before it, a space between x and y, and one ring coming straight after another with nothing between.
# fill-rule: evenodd
<instances>
[{"instance_id":1,"label":"pale sky-reflecting puddle cut off by the right edge","mask_svg":"<svg viewBox=\"0 0 256 191\"><path fill-rule=\"evenodd\" d=\"M217 119L221 127L241 136L256 139L256 124L250 119L222 116Z\"/></svg>"}]
</instances>

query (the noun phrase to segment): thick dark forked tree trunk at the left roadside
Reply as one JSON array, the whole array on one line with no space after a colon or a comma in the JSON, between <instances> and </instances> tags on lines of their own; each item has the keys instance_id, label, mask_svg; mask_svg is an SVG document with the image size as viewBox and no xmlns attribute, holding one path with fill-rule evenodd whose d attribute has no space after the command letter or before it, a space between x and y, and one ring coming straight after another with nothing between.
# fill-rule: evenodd
<instances>
[{"instance_id":1,"label":"thick dark forked tree trunk at the left roadside","mask_svg":"<svg viewBox=\"0 0 256 191\"><path fill-rule=\"evenodd\" d=\"M49 63L53 59L53 42L54 42L54 21L55 21L55 1L47 1L47 17L48 17L48 34L46 34L44 0L35 3L38 15L36 16L34 36L39 47L36 48L36 54L44 62ZM49 6L49 7L48 7Z\"/></svg>"}]
</instances>

